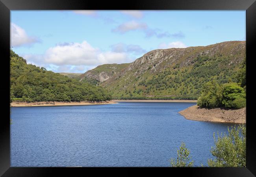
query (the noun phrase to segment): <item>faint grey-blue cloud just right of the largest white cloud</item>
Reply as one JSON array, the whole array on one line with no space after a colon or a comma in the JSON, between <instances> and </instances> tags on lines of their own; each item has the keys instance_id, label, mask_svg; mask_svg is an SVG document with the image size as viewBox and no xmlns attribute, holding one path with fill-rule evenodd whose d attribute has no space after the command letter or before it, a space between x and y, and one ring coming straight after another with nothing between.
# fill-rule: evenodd
<instances>
[{"instance_id":1,"label":"faint grey-blue cloud just right of the largest white cloud","mask_svg":"<svg viewBox=\"0 0 256 177\"><path fill-rule=\"evenodd\" d=\"M134 45L134 44L127 45L123 43L118 43L110 47L113 52L128 52L128 53L133 53L135 55L144 54L147 52L146 50L141 48L141 46Z\"/></svg>"}]
</instances>

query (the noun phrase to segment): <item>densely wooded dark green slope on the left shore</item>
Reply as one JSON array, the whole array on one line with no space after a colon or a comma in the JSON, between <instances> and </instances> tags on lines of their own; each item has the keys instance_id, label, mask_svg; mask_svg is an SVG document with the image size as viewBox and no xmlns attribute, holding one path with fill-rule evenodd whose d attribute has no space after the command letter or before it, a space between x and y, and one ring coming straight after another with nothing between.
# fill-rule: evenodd
<instances>
[{"instance_id":1,"label":"densely wooded dark green slope on the left shore","mask_svg":"<svg viewBox=\"0 0 256 177\"><path fill-rule=\"evenodd\" d=\"M13 50L10 71L10 102L111 100L106 89L27 64Z\"/></svg>"}]
</instances>

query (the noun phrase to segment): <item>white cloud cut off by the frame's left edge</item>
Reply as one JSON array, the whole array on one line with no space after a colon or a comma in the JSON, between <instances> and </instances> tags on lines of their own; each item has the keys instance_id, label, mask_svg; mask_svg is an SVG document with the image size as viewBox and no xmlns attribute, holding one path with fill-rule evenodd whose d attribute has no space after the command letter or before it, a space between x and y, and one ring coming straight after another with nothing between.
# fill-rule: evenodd
<instances>
[{"instance_id":1,"label":"white cloud cut off by the frame's left edge","mask_svg":"<svg viewBox=\"0 0 256 177\"><path fill-rule=\"evenodd\" d=\"M28 36L24 29L22 29L17 24L11 23L11 46L29 46L35 42L39 42L39 39L36 37Z\"/></svg>"}]
</instances>

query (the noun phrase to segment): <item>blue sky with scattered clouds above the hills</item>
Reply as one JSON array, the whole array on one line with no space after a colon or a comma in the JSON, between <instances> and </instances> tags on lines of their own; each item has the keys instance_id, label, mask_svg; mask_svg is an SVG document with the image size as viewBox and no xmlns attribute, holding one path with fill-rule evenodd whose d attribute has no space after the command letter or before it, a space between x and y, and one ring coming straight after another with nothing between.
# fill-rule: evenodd
<instances>
[{"instance_id":1,"label":"blue sky with scattered clouds above the hills","mask_svg":"<svg viewBox=\"0 0 256 177\"><path fill-rule=\"evenodd\" d=\"M83 73L150 50L245 41L246 11L11 11L11 46L28 63Z\"/></svg>"}]
</instances>

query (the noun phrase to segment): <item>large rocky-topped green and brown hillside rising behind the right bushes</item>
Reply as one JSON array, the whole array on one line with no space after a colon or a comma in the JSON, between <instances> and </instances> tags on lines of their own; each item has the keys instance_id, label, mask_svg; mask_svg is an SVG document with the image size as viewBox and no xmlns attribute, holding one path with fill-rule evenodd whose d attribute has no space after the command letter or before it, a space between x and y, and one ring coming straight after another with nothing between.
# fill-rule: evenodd
<instances>
[{"instance_id":1,"label":"large rocky-topped green and brown hillside rising behind the right bushes","mask_svg":"<svg viewBox=\"0 0 256 177\"><path fill-rule=\"evenodd\" d=\"M244 60L245 41L153 50L101 85L114 99L197 99L212 79L236 81Z\"/></svg>"}]
</instances>

